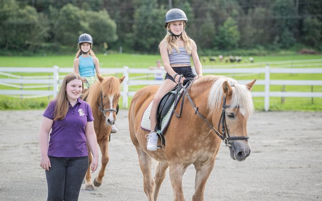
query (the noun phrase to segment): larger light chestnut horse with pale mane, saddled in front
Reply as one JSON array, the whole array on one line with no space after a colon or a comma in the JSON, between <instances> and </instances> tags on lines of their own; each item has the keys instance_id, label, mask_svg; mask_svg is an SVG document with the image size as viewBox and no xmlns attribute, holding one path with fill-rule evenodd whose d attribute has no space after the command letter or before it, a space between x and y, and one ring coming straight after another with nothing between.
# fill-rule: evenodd
<instances>
[{"instance_id":1,"label":"larger light chestnut horse with pale mane, saddled in front","mask_svg":"<svg viewBox=\"0 0 322 201\"><path fill-rule=\"evenodd\" d=\"M146 149L147 132L141 129L140 121L158 86L146 86L136 92L129 109L129 130L149 201L156 200L168 167L174 200L185 200L182 177L191 164L196 169L192 200L203 200L220 139L229 146L232 159L243 161L250 155L247 121L254 108L250 91L255 81L241 85L232 78L213 75L196 80L188 90L191 101L187 100L189 95L184 97L182 116L172 117L165 133L166 146L157 151ZM180 104L181 101L176 112ZM160 145L160 140L158 143ZM158 161L154 179L151 176L151 158Z\"/></svg>"}]
</instances>

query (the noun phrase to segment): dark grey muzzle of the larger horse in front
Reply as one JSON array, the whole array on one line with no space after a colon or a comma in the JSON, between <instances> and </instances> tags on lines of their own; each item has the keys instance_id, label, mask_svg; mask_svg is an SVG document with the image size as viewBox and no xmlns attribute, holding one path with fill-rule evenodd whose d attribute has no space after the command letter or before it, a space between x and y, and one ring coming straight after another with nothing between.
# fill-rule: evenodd
<instances>
[{"instance_id":1,"label":"dark grey muzzle of the larger horse in front","mask_svg":"<svg viewBox=\"0 0 322 201\"><path fill-rule=\"evenodd\" d=\"M229 147L230 157L236 161L245 160L252 152L252 149L248 142L244 140L229 141L231 145Z\"/></svg>"}]
</instances>

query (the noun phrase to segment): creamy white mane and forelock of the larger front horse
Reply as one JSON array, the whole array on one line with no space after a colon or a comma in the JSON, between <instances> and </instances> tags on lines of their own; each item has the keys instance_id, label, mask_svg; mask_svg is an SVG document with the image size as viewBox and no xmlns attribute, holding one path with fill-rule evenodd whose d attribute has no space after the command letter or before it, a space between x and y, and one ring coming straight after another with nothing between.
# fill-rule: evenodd
<instances>
[{"instance_id":1,"label":"creamy white mane and forelock of the larger front horse","mask_svg":"<svg viewBox=\"0 0 322 201\"><path fill-rule=\"evenodd\" d=\"M229 108L239 107L242 115L248 116L254 111L253 99L248 87L244 84L239 84L235 79L225 76L207 75L196 82L213 81L208 95L208 108L211 112L219 112L222 110L222 98L224 96L222 84L227 81L232 86L232 96Z\"/></svg>"}]
</instances>

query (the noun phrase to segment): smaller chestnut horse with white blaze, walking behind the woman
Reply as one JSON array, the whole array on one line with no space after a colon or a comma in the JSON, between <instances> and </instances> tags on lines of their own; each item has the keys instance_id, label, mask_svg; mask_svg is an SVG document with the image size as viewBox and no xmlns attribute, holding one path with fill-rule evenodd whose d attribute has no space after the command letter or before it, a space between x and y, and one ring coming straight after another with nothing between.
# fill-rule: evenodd
<instances>
[{"instance_id":1,"label":"smaller chestnut horse with white blaze, walking behind the woman","mask_svg":"<svg viewBox=\"0 0 322 201\"><path fill-rule=\"evenodd\" d=\"M111 134L111 126L116 121L116 107L121 95L121 83L124 77L118 79L116 77L102 77L98 75L99 80L96 81L86 91L84 96L86 101L90 104L94 117L94 129L97 137L97 142L102 152L102 167L98 176L94 179L93 183L96 186L100 186L103 182L105 174L105 168L109 162L109 137ZM88 93L88 94L87 94ZM90 149L89 149L90 151ZM89 154L90 164L93 156ZM87 190L93 190L91 169L87 170L85 188Z\"/></svg>"}]
</instances>

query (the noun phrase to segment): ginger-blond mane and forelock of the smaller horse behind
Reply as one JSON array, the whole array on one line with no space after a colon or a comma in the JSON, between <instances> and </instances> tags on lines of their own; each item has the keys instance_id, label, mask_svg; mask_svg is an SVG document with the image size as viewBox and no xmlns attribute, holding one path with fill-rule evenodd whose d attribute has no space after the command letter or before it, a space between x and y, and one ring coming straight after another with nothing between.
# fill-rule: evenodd
<instances>
[{"instance_id":1,"label":"ginger-blond mane and forelock of the smaller horse behind","mask_svg":"<svg viewBox=\"0 0 322 201\"><path fill-rule=\"evenodd\" d=\"M91 87L89 91L88 103L91 106L95 106L98 99L101 97L101 92L104 95L111 96L116 93L120 93L121 83L118 78L109 76L104 77L102 82L96 81Z\"/></svg>"}]
</instances>

